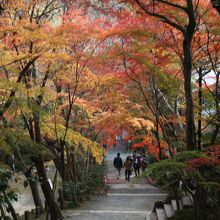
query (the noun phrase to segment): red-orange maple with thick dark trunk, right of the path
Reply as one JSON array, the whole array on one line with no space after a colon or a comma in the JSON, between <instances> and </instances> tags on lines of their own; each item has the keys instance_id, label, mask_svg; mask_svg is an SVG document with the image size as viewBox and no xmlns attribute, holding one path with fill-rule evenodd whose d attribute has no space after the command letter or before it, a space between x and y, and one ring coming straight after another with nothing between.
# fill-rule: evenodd
<instances>
[{"instance_id":1,"label":"red-orange maple with thick dark trunk, right of the path","mask_svg":"<svg viewBox=\"0 0 220 220\"><path fill-rule=\"evenodd\" d=\"M152 51L153 51L152 53L153 55L155 54L155 51L158 51L158 54L161 53L160 55L163 56L157 56L155 59L156 60L155 63L152 62L151 65L155 65L155 66L157 65L157 68L158 65L160 66L160 68L162 67L162 65L167 65L167 64L173 65L170 66L171 68L169 69L165 68L166 69L164 71L165 73L170 74L172 71L174 75L179 75L179 72L182 72L182 68L183 68L183 78L184 78L183 82L185 84L184 90L185 90L185 103L186 103L186 110L185 110L186 140L188 140L186 141L186 147L187 149L197 148L196 129L194 126L194 120L196 118L194 115L194 110L197 104L193 103L195 102L195 100L193 100L194 94L192 92L194 89L194 85L191 80L191 77L195 66L199 66L201 64L201 58L202 58L201 54L203 53L203 52L201 53L201 50L202 51L206 50L204 47L205 44L210 46L209 54L213 54L213 56L215 56L215 58L214 57L212 58L213 61L214 59L216 60L216 58L218 57L217 54L214 55L215 54L214 50L218 50L217 49L218 40L216 38L215 38L216 40L214 40L214 37L210 37L210 36L208 40L208 38L204 36L206 34L210 35L208 29L211 28L211 26L209 25L211 25L211 20L212 18L214 18L216 13L210 9L210 4L205 1L201 1L201 2L182 1L180 2L180 4L176 4L168 1L149 1L149 2L126 1L126 3L125 4L122 3L122 9L124 10L120 11L119 14L117 14L117 12L115 12L114 10L110 12L117 18L117 24L113 25L112 34L115 35L116 37L119 35L119 41L122 42L121 45L118 42L116 43L116 45L118 45L118 47L121 48L121 52L119 53L122 56L122 60L123 60L122 65L126 64L127 62L127 66L124 65L125 72L126 71L130 72L130 76L128 77L130 77L130 79L133 77L133 80L134 81L136 80L137 85L140 83L145 84L146 82L144 81L143 76L144 74L146 74L147 68L149 67L144 66L144 64L147 63L147 61L149 62L149 60L153 61L153 59L155 59L153 56L150 56L150 53L152 53ZM131 7L129 7L131 5L129 4L132 5L133 7L132 9L134 10L131 10ZM195 8L195 10L197 10L198 13L195 13L195 11L192 10L193 8ZM170 9L174 9L175 14L172 13L173 10ZM206 30L204 28L204 23L206 24L209 23L207 25L209 27ZM157 28L158 25L160 25L161 29ZM198 26L197 29L195 28L196 25ZM212 30L214 29L215 28L213 28ZM218 33L218 30L216 30L215 33ZM157 44L152 46L153 49L149 48L149 45L152 45L152 42L150 42L149 36L144 38L145 34L152 36L152 39L155 39L155 41L157 42ZM139 41L135 40L134 36ZM125 40L123 40L124 38ZM210 41L210 39L213 39L213 41ZM203 41L203 43L206 41L206 43L200 44L201 47L199 48L198 46L199 41L200 42ZM139 47L138 47L138 43L140 44ZM145 44L147 46L145 46ZM130 47L129 49L127 49L127 45L128 47ZM213 50L211 49L211 47L215 49ZM115 53L112 55L118 56L120 54ZM134 54L133 57L131 54L132 55ZM205 56L207 56L207 54L208 52L206 50ZM176 55L177 55L176 59L173 59L171 61L171 57L173 58L173 56ZM135 59L134 56L136 57ZM170 60L169 60L169 56L170 56ZM179 60L177 58L179 58ZM209 64L213 63L213 61L211 60L207 61L207 59L209 58L206 57L206 63L202 64L203 68L205 69L207 63ZM115 62L114 58L113 60ZM161 60L161 62L159 62L158 60ZM175 64L173 61L175 61ZM216 64L217 63L218 62L216 62ZM115 68L117 67L117 65L119 66L118 72L120 73L121 66L118 62L115 62ZM175 68L176 72L173 71L174 65L176 65L175 67L177 67ZM216 69L216 67L211 67L211 68ZM152 69L153 68L150 69L151 72ZM155 69L153 69L154 72ZM132 72L133 75L131 74ZM127 81L125 80L125 82ZM215 88L218 88L218 86ZM213 96L216 98L218 97L217 94L213 94ZM178 95L176 97L178 97ZM216 128L214 132L215 135L218 133L217 130L218 129ZM215 136L214 134L213 134L213 138ZM199 148L201 145L200 140L201 137L198 137L198 142L200 143L198 144Z\"/></svg>"}]
</instances>

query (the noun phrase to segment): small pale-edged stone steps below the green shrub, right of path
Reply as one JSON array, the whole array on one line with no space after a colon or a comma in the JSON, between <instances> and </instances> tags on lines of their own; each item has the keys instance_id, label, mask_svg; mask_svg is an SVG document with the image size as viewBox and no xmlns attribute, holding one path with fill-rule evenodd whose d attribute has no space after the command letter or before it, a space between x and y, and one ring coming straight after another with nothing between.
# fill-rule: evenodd
<instances>
[{"instance_id":1,"label":"small pale-edged stone steps below the green shrub, right of path","mask_svg":"<svg viewBox=\"0 0 220 220\"><path fill-rule=\"evenodd\" d=\"M179 200L180 209L193 206L193 201L190 195L186 194ZM170 202L158 201L155 203L154 209L150 214L149 220L166 220L174 215L177 211L176 200Z\"/></svg>"}]
</instances>

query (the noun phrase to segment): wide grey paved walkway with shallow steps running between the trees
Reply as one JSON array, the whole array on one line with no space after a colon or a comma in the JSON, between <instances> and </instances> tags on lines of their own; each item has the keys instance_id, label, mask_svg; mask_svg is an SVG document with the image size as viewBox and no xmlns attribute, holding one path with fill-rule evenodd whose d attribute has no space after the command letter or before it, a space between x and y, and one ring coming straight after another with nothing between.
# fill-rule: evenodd
<instances>
[{"instance_id":1,"label":"wide grey paved walkway with shallow steps running between the trees","mask_svg":"<svg viewBox=\"0 0 220 220\"><path fill-rule=\"evenodd\" d=\"M108 163L108 191L106 195L94 196L80 208L68 210L65 219L70 220L150 220L150 212L154 202L163 200L166 195L158 188L137 180L132 176L128 183L124 180L124 170L117 179L112 166L117 152L123 161L127 157L126 145L120 143L110 150L106 156Z\"/></svg>"}]
</instances>

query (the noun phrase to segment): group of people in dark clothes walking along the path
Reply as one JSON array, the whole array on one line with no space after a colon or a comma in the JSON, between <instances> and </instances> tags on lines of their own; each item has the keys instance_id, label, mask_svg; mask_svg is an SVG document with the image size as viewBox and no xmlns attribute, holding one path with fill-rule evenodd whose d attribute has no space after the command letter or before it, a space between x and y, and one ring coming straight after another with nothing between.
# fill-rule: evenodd
<instances>
[{"instance_id":1,"label":"group of people in dark clothes walking along the path","mask_svg":"<svg viewBox=\"0 0 220 220\"><path fill-rule=\"evenodd\" d=\"M125 162L123 163L120 153L117 154L117 157L114 158L114 167L118 171L118 178L121 175L121 169L125 168L125 180L130 181L130 176L132 175L132 171L134 170L135 176L140 175L140 169L142 171L147 167L148 161L145 156L141 156L140 154L136 154L134 152L133 155L127 156Z\"/></svg>"}]
</instances>

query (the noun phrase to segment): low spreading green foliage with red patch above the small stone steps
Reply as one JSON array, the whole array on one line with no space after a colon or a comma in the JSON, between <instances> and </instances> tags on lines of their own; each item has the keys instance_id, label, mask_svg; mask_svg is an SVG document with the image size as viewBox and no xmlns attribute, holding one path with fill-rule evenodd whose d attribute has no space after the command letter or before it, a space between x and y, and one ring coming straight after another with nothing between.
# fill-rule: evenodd
<instances>
[{"instance_id":1,"label":"low spreading green foliage with red patch above the small stone steps","mask_svg":"<svg viewBox=\"0 0 220 220\"><path fill-rule=\"evenodd\" d=\"M180 180L191 190L198 187L220 190L220 162L199 151L181 152L151 164L145 175L155 179L158 185L166 186L167 190L176 188L178 191Z\"/></svg>"}]
</instances>

